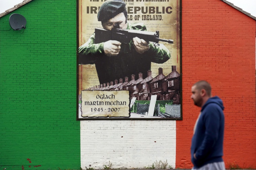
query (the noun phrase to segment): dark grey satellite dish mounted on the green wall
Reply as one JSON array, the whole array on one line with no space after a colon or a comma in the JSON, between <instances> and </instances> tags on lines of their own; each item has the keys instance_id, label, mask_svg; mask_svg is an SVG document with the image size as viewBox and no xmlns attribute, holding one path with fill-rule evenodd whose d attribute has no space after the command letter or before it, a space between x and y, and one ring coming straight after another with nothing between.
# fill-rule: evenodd
<instances>
[{"instance_id":1,"label":"dark grey satellite dish mounted on the green wall","mask_svg":"<svg viewBox=\"0 0 256 170\"><path fill-rule=\"evenodd\" d=\"M27 21L23 15L14 13L9 17L9 23L13 30L21 30L26 29L25 25Z\"/></svg>"}]
</instances>

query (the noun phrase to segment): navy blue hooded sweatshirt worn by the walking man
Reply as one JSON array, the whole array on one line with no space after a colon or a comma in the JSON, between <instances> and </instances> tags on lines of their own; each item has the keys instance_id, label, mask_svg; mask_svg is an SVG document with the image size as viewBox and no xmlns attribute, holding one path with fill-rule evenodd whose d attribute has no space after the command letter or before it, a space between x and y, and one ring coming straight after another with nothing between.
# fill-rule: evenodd
<instances>
[{"instance_id":1,"label":"navy blue hooded sweatshirt worn by the walking man","mask_svg":"<svg viewBox=\"0 0 256 170\"><path fill-rule=\"evenodd\" d=\"M222 100L218 96L208 99L201 109L191 144L191 161L194 168L223 161L223 109Z\"/></svg>"}]
</instances>

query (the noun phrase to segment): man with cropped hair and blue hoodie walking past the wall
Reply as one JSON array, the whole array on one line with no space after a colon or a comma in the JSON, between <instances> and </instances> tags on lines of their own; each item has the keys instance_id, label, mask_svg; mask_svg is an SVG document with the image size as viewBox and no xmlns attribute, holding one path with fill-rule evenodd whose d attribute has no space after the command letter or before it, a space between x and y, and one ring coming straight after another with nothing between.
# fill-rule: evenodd
<instances>
[{"instance_id":1,"label":"man with cropped hair and blue hoodie walking past the wall","mask_svg":"<svg viewBox=\"0 0 256 170\"><path fill-rule=\"evenodd\" d=\"M212 97L211 91L210 84L204 80L191 88L191 99L201 107L191 144L192 170L225 170L222 159L224 106L218 96Z\"/></svg>"}]
</instances>

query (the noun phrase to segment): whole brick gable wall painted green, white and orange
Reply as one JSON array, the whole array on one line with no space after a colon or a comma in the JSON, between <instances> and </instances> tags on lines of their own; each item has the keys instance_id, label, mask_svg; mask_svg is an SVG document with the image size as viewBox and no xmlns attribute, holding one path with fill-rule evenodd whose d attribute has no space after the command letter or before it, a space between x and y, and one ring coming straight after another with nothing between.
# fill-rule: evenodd
<instances>
[{"instance_id":1,"label":"whole brick gable wall painted green, white and orange","mask_svg":"<svg viewBox=\"0 0 256 170\"><path fill-rule=\"evenodd\" d=\"M76 1L33 0L13 11L26 17L24 33L9 30L12 13L1 17L0 168L143 168L160 160L191 168L200 109L190 88L200 79L224 102L226 167L255 168L255 20L220 0L183 0L182 8L182 121L76 121Z\"/></svg>"}]
</instances>

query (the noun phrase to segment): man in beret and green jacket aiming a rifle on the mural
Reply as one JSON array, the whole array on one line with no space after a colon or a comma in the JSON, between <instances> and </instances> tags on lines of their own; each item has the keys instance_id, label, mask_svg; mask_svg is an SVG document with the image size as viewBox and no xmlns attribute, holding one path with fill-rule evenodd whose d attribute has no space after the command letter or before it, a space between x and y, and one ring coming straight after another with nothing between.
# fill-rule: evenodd
<instances>
[{"instance_id":1,"label":"man in beret and green jacket aiming a rifle on the mural","mask_svg":"<svg viewBox=\"0 0 256 170\"><path fill-rule=\"evenodd\" d=\"M99 9L98 21L101 21L103 29L108 31L146 31L146 26L142 23L127 22L125 2L122 0L105 1ZM97 42L97 36L94 33L79 47L78 63L95 64L100 84L139 73L142 73L144 79L147 77L147 71L151 69L151 62L164 63L170 58L170 52L163 44L155 45L138 37L133 37L129 43L113 39Z\"/></svg>"}]
</instances>

